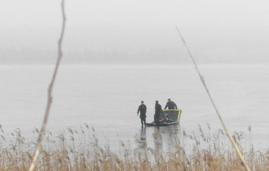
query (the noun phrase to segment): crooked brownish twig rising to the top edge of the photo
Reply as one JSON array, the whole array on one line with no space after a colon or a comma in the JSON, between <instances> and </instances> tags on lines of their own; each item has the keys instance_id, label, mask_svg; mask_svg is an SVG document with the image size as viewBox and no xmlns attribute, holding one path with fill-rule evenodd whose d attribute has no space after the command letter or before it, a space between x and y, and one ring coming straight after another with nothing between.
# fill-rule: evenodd
<instances>
[{"instance_id":1,"label":"crooked brownish twig rising to the top edge of the photo","mask_svg":"<svg viewBox=\"0 0 269 171\"><path fill-rule=\"evenodd\" d=\"M42 124L42 127L41 127L41 131L40 131L39 136L38 136L38 140L37 140L37 144L36 144L36 151L34 153L34 157L33 157L33 160L31 162L31 166L29 168L29 171L33 171L35 169L36 162L37 162L38 156L39 156L40 151L41 151L41 142L43 140L43 135L45 134L45 129L46 129L46 126L47 126L47 123L48 123L48 117L49 117L49 114L50 114L50 107L51 107L51 103L52 103L52 89L53 89L53 85L54 85L54 82L55 82L55 78L56 78L57 71L58 71L59 64L60 64L61 57L62 57L61 42L62 42L62 40L64 38L64 29L65 29L65 26L66 26L66 15L64 13L64 0L61 1L61 14L62 14L62 17L63 17L63 23L62 23L62 28L61 28L61 36L60 36L59 41L58 41L57 64L56 64L56 66L54 68L54 73L52 75L52 80L51 80L49 88L48 88L48 101L47 101L47 105L46 105L46 109L45 109L45 116L44 116L44 119L43 119L43 124Z\"/></svg>"}]
</instances>

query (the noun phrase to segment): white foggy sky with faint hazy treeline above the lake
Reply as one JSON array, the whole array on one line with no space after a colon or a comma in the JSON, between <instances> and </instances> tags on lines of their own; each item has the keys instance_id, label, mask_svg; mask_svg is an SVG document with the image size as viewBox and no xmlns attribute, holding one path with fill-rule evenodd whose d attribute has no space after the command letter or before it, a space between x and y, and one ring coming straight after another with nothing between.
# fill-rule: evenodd
<instances>
[{"instance_id":1,"label":"white foggy sky with faint hazy treeline above the lake","mask_svg":"<svg viewBox=\"0 0 269 171\"><path fill-rule=\"evenodd\" d=\"M65 64L268 63L269 1L66 0ZM1 64L53 64L59 0L0 1Z\"/></svg>"}]
</instances>

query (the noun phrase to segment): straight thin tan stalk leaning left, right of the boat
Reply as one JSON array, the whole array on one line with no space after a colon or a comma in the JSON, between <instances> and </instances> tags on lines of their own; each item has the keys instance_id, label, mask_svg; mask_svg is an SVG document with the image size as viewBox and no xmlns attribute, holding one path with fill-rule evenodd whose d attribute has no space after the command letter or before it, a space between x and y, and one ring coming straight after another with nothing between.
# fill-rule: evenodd
<instances>
[{"instance_id":1,"label":"straight thin tan stalk leaning left, right of the boat","mask_svg":"<svg viewBox=\"0 0 269 171\"><path fill-rule=\"evenodd\" d=\"M208 94L208 96L209 96L209 98L210 98L210 101L211 101L213 107L215 108L215 111L217 112L217 116L219 117L219 120L221 121L221 124L222 124L222 126L224 127L224 130L226 131L226 134L228 135L228 138L231 140L231 142L232 142L232 144L233 144L233 148L235 149L235 151L236 151L236 153L238 154L240 160L242 161L243 165L245 166L245 169L246 169L247 171L250 171L250 168L249 168L249 166L247 165L247 163L246 163L244 157L242 156L241 151L240 151L240 149L238 148L238 145L235 143L235 140L233 140L233 137L232 137L230 131L228 131L228 128L226 127L226 124L224 123L224 120L222 119L221 114L219 113L219 110L217 110L217 106L215 105L215 103L214 103L214 101L213 101L213 98L212 98L212 96L210 95L210 92L208 91L208 87L207 87L206 84L205 84L205 80L203 79L203 76L201 75L200 70L198 69L198 66L197 66L196 62L194 61L194 57L192 57L192 55L191 55L191 51L189 50L189 47L187 46L187 44L186 44L186 42L185 42L185 40L184 40L182 34L180 34L180 30L179 30L177 27L175 27L175 28L177 29L177 33L178 33L178 34L180 35L180 37L182 38L182 41L183 41L185 47L187 48L187 51L189 52L189 56L191 57L191 60L194 62L194 66L195 66L195 68L196 68L196 70L197 70L197 73L198 73L198 75L199 75L201 81L203 82L203 87L205 87L205 90L206 90L206 92L207 92L207 94Z\"/></svg>"}]
</instances>

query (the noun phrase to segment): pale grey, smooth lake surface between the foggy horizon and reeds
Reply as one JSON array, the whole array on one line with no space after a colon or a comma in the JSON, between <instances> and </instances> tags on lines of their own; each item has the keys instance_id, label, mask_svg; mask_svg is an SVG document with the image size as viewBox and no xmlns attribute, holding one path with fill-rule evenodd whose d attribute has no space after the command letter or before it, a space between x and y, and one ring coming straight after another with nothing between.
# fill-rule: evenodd
<instances>
[{"instance_id":1,"label":"pale grey, smooth lake surface between the foggy horizon and reeds","mask_svg":"<svg viewBox=\"0 0 269 171\"><path fill-rule=\"evenodd\" d=\"M247 133L245 143L257 148L269 144L269 66L199 66L219 112L231 133ZM40 128L54 66L0 66L0 124L8 136L15 128L33 138ZM171 98L183 112L180 125L140 127L136 112L147 105L153 121L154 102L164 107ZM119 141L136 148L170 149L175 137L222 128L194 66L62 65L53 89L48 130L54 135L68 128L93 127L99 142L117 150ZM252 131L248 133L251 126ZM156 138L156 136L161 138Z\"/></svg>"}]
</instances>

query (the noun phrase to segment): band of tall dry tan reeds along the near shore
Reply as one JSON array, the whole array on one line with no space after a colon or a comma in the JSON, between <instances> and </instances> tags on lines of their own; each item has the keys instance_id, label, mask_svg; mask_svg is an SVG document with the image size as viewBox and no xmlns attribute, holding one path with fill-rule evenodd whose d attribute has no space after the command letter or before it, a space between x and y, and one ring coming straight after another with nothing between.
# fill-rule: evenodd
<instances>
[{"instance_id":1,"label":"band of tall dry tan reeds along the near shore","mask_svg":"<svg viewBox=\"0 0 269 171\"><path fill-rule=\"evenodd\" d=\"M33 132L36 136L39 131L35 128ZM87 124L59 135L47 131L36 170L245 170L224 131L212 133L208 125L199 126L197 132L187 135L182 129L173 149L166 152L141 145L147 143L144 140L134 140L136 149L119 141L119 155L108 144L101 145ZM250 148L240 146L244 137L242 132L233 134L251 170L269 170L269 150L255 150L252 144ZM24 138L19 129L9 136L2 133L0 139L0 170L28 170L35 142Z\"/></svg>"}]
</instances>

